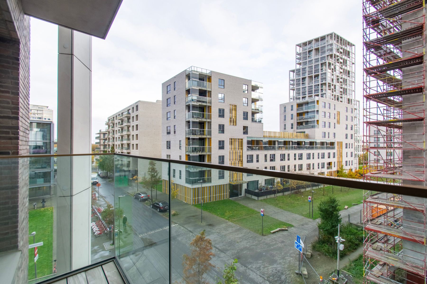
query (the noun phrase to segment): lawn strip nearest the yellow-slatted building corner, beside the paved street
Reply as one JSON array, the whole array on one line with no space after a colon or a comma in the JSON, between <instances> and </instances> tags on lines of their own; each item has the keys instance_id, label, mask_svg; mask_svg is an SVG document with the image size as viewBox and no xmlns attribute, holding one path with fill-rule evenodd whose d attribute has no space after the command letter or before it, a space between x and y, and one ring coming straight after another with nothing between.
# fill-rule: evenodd
<instances>
[{"instance_id":1,"label":"lawn strip nearest the yellow-slatted building corner, beside the paved street","mask_svg":"<svg viewBox=\"0 0 427 284\"><path fill-rule=\"evenodd\" d=\"M200 204L196 204L194 206L200 208ZM236 201L225 199L204 203L203 210L262 235L260 212L246 207ZM282 227L293 226L270 216L264 216L264 235L269 235L270 231Z\"/></svg>"}]
</instances>

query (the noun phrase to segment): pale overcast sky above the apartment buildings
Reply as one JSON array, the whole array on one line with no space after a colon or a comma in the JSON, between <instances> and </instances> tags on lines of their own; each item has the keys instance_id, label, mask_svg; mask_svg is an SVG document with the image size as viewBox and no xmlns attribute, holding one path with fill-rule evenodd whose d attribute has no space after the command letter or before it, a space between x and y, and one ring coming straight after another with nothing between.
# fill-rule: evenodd
<instances>
[{"instance_id":1,"label":"pale overcast sky above the apartment buildings","mask_svg":"<svg viewBox=\"0 0 427 284\"><path fill-rule=\"evenodd\" d=\"M360 0L123 0L107 39L93 38L92 139L108 115L160 100L161 83L190 66L264 83L264 130L278 131L295 44L330 32L356 44L361 100L361 15ZM58 27L32 18L30 103L53 109L55 122L57 57Z\"/></svg>"}]
</instances>

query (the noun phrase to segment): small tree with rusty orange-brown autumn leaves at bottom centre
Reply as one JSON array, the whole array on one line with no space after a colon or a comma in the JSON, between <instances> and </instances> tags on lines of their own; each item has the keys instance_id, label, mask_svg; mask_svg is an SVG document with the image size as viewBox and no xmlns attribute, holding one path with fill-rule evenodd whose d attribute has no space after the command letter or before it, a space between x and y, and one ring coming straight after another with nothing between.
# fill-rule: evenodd
<instances>
[{"instance_id":1,"label":"small tree with rusty orange-brown autumn leaves at bottom centre","mask_svg":"<svg viewBox=\"0 0 427 284\"><path fill-rule=\"evenodd\" d=\"M212 252L212 241L206 238L205 230L190 243L191 254L183 255L182 266L184 267L185 284L208 284L205 273L215 267L211 264L211 259L215 254Z\"/></svg>"}]
</instances>

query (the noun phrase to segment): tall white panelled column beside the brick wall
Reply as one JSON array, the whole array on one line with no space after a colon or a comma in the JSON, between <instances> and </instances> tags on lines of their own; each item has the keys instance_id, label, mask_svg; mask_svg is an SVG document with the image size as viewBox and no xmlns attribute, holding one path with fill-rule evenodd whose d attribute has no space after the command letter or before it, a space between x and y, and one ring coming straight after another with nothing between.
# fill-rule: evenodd
<instances>
[{"instance_id":1,"label":"tall white panelled column beside the brick wall","mask_svg":"<svg viewBox=\"0 0 427 284\"><path fill-rule=\"evenodd\" d=\"M58 154L91 153L91 69L91 36L58 27ZM58 157L57 177L60 273L91 263L91 157Z\"/></svg>"}]
</instances>

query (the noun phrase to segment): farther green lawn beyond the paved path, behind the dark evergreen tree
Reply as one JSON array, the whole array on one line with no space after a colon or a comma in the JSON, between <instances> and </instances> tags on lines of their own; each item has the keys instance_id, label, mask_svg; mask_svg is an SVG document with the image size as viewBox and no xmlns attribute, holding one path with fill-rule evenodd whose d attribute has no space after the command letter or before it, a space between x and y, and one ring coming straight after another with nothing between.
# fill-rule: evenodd
<instances>
[{"instance_id":1,"label":"farther green lawn beyond the paved path, behind the dark evergreen tree","mask_svg":"<svg viewBox=\"0 0 427 284\"><path fill-rule=\"evenodd\" d=\"M362 189L348 189L348 187L325 186L325 195L323 195L323 187L313 189L314 193L314 219L319 218L319 212L317 206L319 202L328 197L328 195L333 195L339 201L339 209L344 209L344 206L352 207L352 203L360 204L363 201L363 190ZM341 191L342 190L342 191ZM291 195L282 195L274 198L262 199L262 202L270 204L272 206L284 209L286 211L304 216L308 216L308 196L311 195L310 190L291 194ZM310 207L311 210L311 207Z\"/></svg>"}]
</instances>

